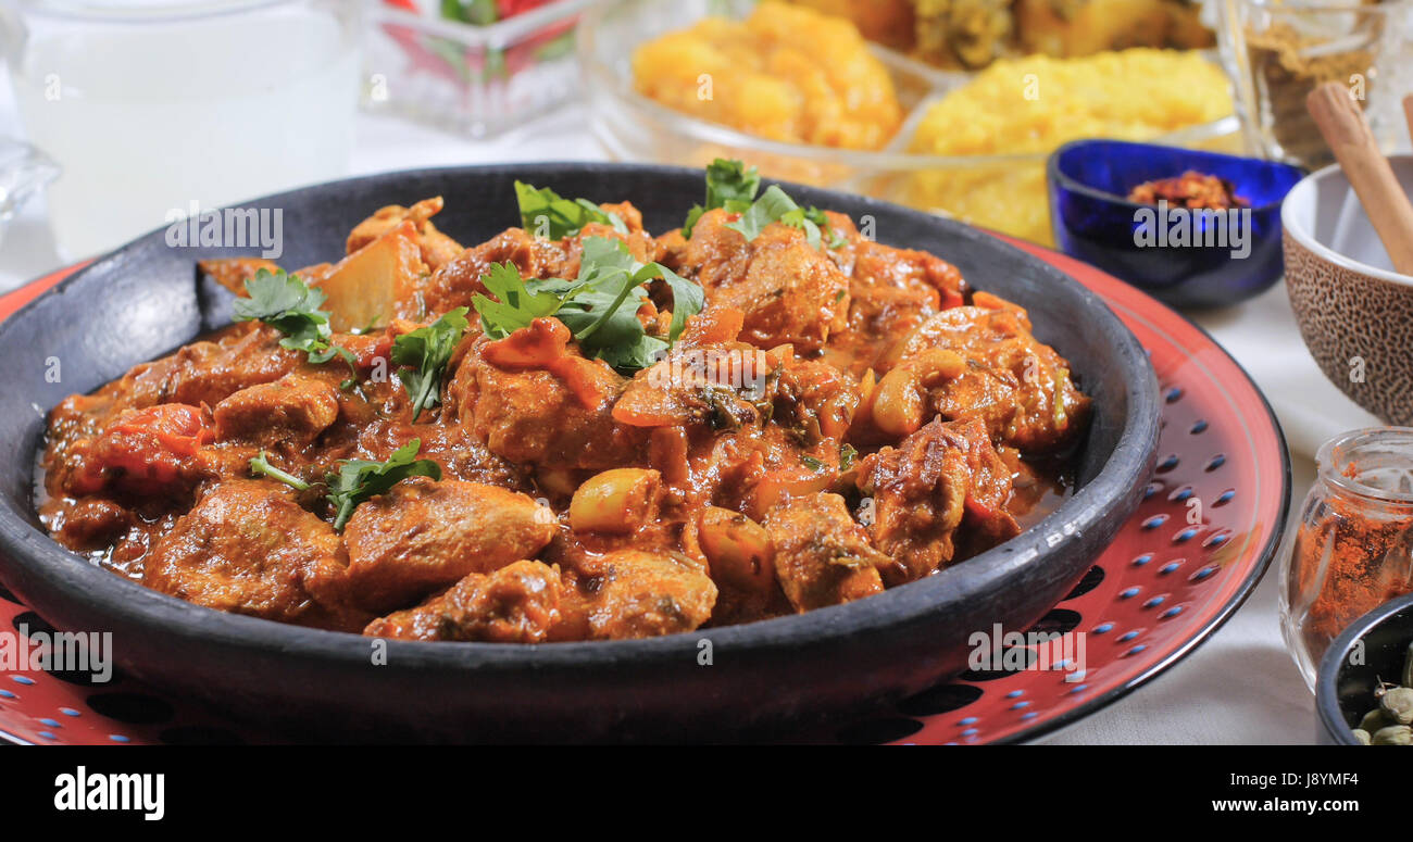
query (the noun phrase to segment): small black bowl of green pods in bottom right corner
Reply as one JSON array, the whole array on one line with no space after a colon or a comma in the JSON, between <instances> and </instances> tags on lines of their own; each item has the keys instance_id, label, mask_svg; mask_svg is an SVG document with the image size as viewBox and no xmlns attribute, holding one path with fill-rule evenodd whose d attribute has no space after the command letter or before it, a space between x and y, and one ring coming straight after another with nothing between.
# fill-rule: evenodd
<instances>
[{"instance_id":1,"label":"small black bowl of green pods in bottom right corner","mask_svg":"<svg viewBox=\"0 0 1413 842\"><path fill-rule=\"evenodd\" d=\"M1373 691L1379 681L1402 681L1409 644L1413 593L1381 605L1334 639L1316 677L1316 739L1321 745L1359 745L1354 726L1378 706Z\"/></svg>"}]
</instances>

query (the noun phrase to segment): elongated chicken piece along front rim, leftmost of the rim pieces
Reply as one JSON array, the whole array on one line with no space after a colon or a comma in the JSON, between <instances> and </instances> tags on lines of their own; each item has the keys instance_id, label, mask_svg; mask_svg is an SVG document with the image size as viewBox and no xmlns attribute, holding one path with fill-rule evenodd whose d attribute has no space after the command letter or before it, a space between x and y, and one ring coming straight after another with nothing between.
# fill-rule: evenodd
<instances>
[{"instance_id":1,"label":"elongated chicken piece along front rim, leftmost of the rim pieces","mask_svg":"<svg viewBox=\"0 0 1413 842\"><path fill-rule=\"evenodd\" d=\"M373 620L370 637L544 643L560 619L560 574L538 561L516 561L490 574L468 574L422 605Z\"/></svg>"}]
</instances>

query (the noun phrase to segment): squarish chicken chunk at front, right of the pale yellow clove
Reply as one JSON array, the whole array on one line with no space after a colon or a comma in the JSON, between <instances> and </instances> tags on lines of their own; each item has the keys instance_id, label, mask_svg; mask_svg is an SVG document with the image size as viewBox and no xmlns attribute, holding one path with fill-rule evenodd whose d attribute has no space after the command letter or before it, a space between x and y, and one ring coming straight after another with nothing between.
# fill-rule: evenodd
<instances>
[{"instance_id":1,"label":"squarish chicken chunk at front, right of the pale yellow clove","mask_svg":"<svg viewBox=\"0 0 1413 842\"><path fill-rule=\"evenodd\" d=\"M838 494L790 497L766 516L776 548L776 579L794 610L841 605L883 591L892 564L869 544Z\"/></svg>"}]
</instances>

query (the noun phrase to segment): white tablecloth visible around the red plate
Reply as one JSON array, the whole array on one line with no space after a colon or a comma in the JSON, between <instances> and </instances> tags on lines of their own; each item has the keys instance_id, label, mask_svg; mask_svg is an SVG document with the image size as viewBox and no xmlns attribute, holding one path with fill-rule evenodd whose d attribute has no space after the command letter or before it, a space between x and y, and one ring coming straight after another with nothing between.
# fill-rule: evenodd
<instances>
[{"instance_id":1,"label":"white tablecloth visible around the red plate","mask_svg":"<svg viewBox=\"0 0 1413 842\"><path fill-rule=\"evenodd\" d=\"M0 78L0 134L18 134ZM602 153L575 107L493 141L360 116L353 174L500 161L596 160ZM95 140L95 143L102 143ZM42 202L25 208L0 243L0 291L61 264ZM1296 332L1284 287L1229 309L1200 314L1207 328L1266 393L1294 463L1293 509L1314 479L1316 448L1334 434L1376 424L1331 383ZM1310 692L1280 639L1276 568L1221 632L1186 661L1099 713L1051 735L1048 743L1306 743L1313 740Z\"/></svg>"}]
</instances>

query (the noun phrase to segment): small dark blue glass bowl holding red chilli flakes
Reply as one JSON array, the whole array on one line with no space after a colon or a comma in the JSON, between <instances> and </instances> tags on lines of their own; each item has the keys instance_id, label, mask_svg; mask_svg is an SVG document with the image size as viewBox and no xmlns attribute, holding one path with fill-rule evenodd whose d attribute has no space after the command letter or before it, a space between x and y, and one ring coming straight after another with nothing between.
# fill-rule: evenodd
<instances>
[{"instance_id":1,"label":"small dark blue glass bowl holding red chilli flakes","mask_svg":"<svg viewBox=\"0 0 1413 842\"><path fill-rule=\"evenodd\" d=\"M1125 196L1136 185L1188 170L1218 175L1249 213L1200 215ZM1260 161L1149 143L1077 140L1047 164L1050 225L1070 254L1173 307L1236 304L1280 277L1280 201L1303 172ZM1222 212L1217 212L1222 213Z\"/></svg>"}]
</instances>

